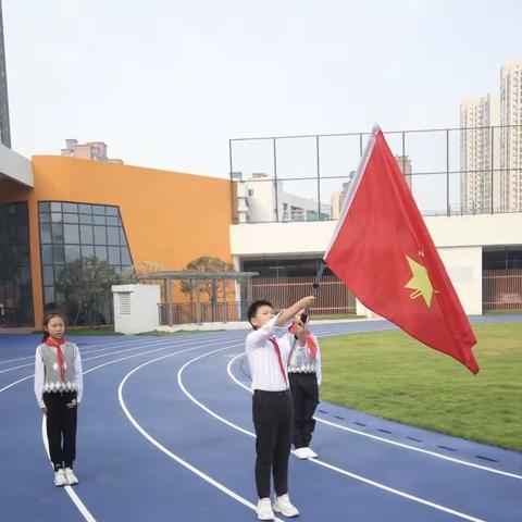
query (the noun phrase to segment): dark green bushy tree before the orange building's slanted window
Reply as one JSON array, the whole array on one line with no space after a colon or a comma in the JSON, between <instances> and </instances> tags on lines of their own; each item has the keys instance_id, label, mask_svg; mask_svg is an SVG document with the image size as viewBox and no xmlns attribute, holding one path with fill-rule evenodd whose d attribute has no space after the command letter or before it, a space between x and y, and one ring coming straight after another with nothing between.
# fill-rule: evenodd
<instances>
[{"instance_id":1,"label":"dark green bushy tree before the orange building's slanted window","mask_svg":"<svg viewBox=\"0 0 522 522\"><path fill-rule=\"evenodd\" d=\"M72 325L75 326L84 315L91 326L96 322L95 312L98 311L98 307L110 296L111 286L120 282L121 276L114 268L96 257L65 263L55 283L55 289L62 294L67 308L74 308Z\"/></svg>"}]
</instances>

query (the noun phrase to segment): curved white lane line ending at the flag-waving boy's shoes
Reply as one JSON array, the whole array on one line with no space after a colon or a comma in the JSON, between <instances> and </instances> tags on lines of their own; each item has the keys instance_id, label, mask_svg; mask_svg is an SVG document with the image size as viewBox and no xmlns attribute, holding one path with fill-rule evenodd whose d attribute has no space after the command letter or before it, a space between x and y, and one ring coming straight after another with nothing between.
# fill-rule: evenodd
<instances>
[{"instance_id":1,"label":"curved white lane line ending at the flag-waving boy's shoes","mask_svg":"<svg viewBox=\"0 0 522 522\"><path fill-rule=\"evenodd\" d=\"M229 348L234 348L234 347L237 347L239 345L233 345L233 346L229 346L229 347L226 347L226 348L221 348L220 350L224 350L224 349L229 349ZM214 350L215 351L215 350ZM219 350L217 350L219 351ZM212 352L211 352L212 353ZM252 502L250 502L249 500L247 500L246 498L241 497L240 495L238 495L237 493L233 492L232 489L229 489L228 487L226 487L224 484L222 484L221 482L217 482L216 480L212 478L210 475L208 475L207 473L204 473L203 471L201 471L200 469L196 468L195 465L190 464L189 462L187 462L186 460L182 459L179 456L177 456L176 453L173 453L170 449L165 448L162 444L160 444L154 437L152 437L152 435L150 435L147 431L145 431L141 425L136 421L136 419L132 415L132 413L128 411L128 408L125 403L125 400L123 399L123 387L125 386L125 383L127 382L128 377L130 377L130 375L133 375L135 372L141 370L142 368L147 366L148 364L152 363L152 362L157 362L157 361L160 361L162 359L166 359L167 357L172 357L174 356L175 353L169 353L166 356L162 356L162 357L158 357L156 359L152 359L150 361L147 361L147 362L144 362L142 364L140 364L139 366L136 366L134 370L132 370L130 372L128 372L125 377L123 378L123 381L120 383L120 386L117 388L117 398L120 400L120 405L122 407L122 410L123 412L125 413L125 415L127 417L127 419L130 421L130 423L133 424L133 426L150 443L152 444L154 447L157 447L160 451L162 451L163 453L165 453L167 457L170 457L172 460L176 461L178 464L182 464L184 468L186 468L187 470L191 471L195 475L199 476L200 478L202 478L203 481L208 482L210 485L214 486L215 488L217 488L220 492L224 493L225 495L228 495L231 498L233 498L234 500L238 501L239 504L243 504L243 506L246 506L247 508L250 508L251 510L256 510L256 505L253 505ZM277 519L275 518L274 520L278 521L278 522L283 522L281 519Z\"/></svg>"}]
</instances>

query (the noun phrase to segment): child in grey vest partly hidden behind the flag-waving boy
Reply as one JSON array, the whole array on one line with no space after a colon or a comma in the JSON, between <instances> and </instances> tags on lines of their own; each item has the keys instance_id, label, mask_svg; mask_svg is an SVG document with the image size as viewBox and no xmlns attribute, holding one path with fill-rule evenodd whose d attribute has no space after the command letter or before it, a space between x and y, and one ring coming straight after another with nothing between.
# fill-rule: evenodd
<instances>
[{"instance_id":1,"label":"child in grey vest partly hidden behind the flag-waving boy","mask_svg":"<svg viewBox=\"0 0 522 522\"><path fill-rule=\"evenodd\" d=\"M314 459L318 453L310 449L312 432L315 427L313 413L319 405L321 385L321 351L318 338L301 321L301 314L294 318L289 328L290 343L302 346L303 350L293 350L288 363L291 398L294 401L293 443L298 459Z\"/></svg>"}]
</instances>

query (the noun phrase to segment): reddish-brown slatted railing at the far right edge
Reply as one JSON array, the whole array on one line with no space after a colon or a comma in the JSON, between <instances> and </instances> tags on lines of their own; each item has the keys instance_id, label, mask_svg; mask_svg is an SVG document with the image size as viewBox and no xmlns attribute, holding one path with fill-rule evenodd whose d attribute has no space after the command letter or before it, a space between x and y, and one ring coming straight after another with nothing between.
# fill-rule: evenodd
<instances>
[{"instance_id":1,"label":"reddish-brown slatted railing at the far right edge","mask_svg":"<svg viewBox=\"0 0 522 522\"><path fill-rule=\"evenodd\" d=\"M522 270L484 270L482 302L484 312L522 310Z\"/></svg>"}]
</instances>

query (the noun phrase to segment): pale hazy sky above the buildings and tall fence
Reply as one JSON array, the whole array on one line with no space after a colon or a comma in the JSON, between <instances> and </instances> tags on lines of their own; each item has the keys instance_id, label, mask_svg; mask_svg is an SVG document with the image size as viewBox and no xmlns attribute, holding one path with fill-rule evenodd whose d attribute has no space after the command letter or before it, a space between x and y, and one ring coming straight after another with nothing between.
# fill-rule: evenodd
<instances>
[{"instance_id":1,"label":"pale hazy sky above the buildings and tall fence","mask_svg":"<svg viewBox=\"0 0 522 522\"><path fill-rule=\"evenodd\" d=\"M228 175L228 138L458 126L518 0L3 0L12 145Z\"/></svg>"}]
</instances>

